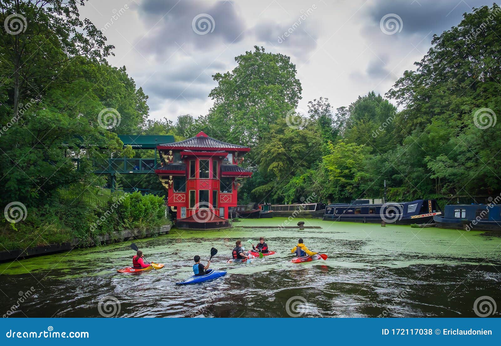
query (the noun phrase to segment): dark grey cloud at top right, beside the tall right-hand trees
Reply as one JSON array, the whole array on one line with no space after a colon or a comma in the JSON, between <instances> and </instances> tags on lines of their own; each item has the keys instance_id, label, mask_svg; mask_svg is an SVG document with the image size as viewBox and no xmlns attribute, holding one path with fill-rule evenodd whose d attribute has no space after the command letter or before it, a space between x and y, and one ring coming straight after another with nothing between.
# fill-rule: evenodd
<instances>
[{"instance_id":1,"label":"dark grey cloud at top right, beside the tall right-hand trees","mask_svg":"<svg viewBox=\"0 0 501 346\"><path fill-rule=\"evenodd\" d=\"M414 0L413 2L389 2L377 0L371 2L366 14L371 19L371 27L379 30L381 18L387 14L400 16L403 23L402 35L440 35L443 31L459 24L462 14L471 12L472 7L491 6L492 0ZM383 33L381 33L384 35Z\"/></svg>"}]
</instances>

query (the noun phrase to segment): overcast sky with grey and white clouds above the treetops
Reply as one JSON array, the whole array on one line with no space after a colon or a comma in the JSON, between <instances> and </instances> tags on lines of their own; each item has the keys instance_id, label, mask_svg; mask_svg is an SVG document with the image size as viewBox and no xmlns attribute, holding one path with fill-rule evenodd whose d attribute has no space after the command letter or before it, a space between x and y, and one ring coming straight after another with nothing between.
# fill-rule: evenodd
<instances>
[{"instance_id":1,"label":"overcast sky with grey and white clouds above the treetops","mask_svg":"<svg viewBox=\"0 0 501 346\"><path fill-rule=\"evenodd\" d=\"M116 48L109 59L149 95L150 118L206 114L212 75L253 46L283 53L303 86L299 108L320 96L347 106L384 94L414 69L433 34L457 25L480 0L90 0L81 16Z\"/></svg>"}]
</instances>

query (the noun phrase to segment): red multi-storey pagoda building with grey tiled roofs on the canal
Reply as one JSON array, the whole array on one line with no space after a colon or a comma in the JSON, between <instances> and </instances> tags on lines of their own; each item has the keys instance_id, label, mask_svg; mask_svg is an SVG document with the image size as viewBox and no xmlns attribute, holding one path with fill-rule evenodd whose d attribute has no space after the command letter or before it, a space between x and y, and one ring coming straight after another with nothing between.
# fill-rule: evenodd
<instances>
[{"instance_id":1,"label":"red multi-storey pagoda building with grey tiled roofs on the canal","mask_svg":"<svg viewBox=\"0 0 501 346\"><path fill-rule=\"evenodd\" d=\"M155 169L167 189L167 205L182 229L228 228L228 208L236 207L240 181L252 175L239 167L246 146L221 142L198 133L179 142L160 144L162 167Z\"/></svg>"}]
</instances>

